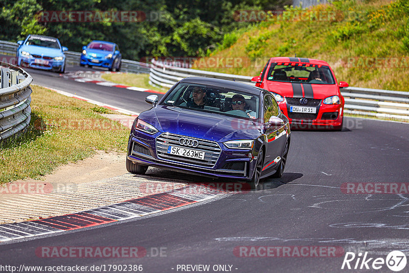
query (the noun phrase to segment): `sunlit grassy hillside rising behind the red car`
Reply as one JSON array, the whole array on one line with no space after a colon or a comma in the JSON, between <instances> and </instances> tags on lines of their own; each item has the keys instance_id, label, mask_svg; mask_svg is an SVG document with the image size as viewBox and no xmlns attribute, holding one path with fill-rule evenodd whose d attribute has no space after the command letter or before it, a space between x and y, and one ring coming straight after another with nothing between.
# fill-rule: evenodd
<instances>
[{"instance_id":1,"label":"sunlit grassy hillside rising behind the red car","mask_svg":"<svg viewBox=\"0 0 409 273\"><path fill-rule=\"evenodd\" d=\"M217 67L205 58L192 68L258 76L268 58L297 54L327 61L338 81L350 86L409 91L407 0L343 0L311 8L311 14L335 14L334 19L300 19L299 8L287 12L288 17L272 17L244 33L232 33L235 42L223 41L229 47L220 46L210 55L241 61L237 65Z\"/></svg>"}]
</instances>

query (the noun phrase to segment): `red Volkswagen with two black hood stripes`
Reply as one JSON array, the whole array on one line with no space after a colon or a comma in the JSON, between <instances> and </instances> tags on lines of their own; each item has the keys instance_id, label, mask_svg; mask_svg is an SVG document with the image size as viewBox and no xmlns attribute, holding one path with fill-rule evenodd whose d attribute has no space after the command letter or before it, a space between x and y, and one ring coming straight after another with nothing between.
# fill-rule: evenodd
<instances>
[{"instance_id":1,"label":"red Volkswagen with two black hood stripes","mask_svg":"<svg viewBox=\"0 0 409 273\"><path fill-rule=\"evenodd\" d=\"M291 128L342 130L344 97L327 62L308 58L270 58L256 86L269 90L288 117Z\"/></svg>"}]
</instances>

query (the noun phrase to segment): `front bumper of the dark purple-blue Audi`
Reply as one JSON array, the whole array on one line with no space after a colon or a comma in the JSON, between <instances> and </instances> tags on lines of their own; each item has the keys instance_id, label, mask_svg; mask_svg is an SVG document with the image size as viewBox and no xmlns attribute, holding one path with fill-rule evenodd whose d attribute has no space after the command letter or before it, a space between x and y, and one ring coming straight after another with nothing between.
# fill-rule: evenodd
<instances>
[{"instance_id":1,"label":"front bumper of the dark purple-blue Audi","mask_svg":"<svg viewBox=\"0 0 409 273\"><path fill-rule=\"evenodd\" d=\"M156 168L167 169L177 172L208 176L212 178L228 178L245 181L249 179L249 173L253 173L255 161L248 156L252 150L221 148L217 162L212 167L202 167L195 164L161 158L156 152L156 138L138 132L137 137L130 134L128 142L128 160ZM159 137L158 133L156 137Z\"/></svg>"}]
</instances>

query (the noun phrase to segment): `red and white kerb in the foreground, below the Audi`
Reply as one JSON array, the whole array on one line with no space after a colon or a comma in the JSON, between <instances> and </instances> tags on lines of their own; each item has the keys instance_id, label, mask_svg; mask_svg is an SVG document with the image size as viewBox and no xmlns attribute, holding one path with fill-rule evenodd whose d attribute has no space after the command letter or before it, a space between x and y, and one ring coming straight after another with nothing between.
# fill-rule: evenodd
<instances>
[{"instance_id":1,"label":"red and white kerb in the foreground, below the Audi","mask_svg":"<svg viewBox=\"0 0 409 273\"><path fill-rule=\"evenodd\" d=\"M232 192L203 184L193 184L92 210L34 221L1 224L0 243L139 218L229 194Z\"/></svg>"}]
</instances>

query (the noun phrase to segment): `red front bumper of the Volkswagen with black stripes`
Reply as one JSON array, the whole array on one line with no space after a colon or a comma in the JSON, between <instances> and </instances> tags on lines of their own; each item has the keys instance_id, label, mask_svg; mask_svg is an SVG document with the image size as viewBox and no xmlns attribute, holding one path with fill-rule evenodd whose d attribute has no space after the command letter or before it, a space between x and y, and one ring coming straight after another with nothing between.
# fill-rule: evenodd
<instances>
[{"instance_id":1,"label":"red front bumper of the Volkswagen with black stripes","mask_svg":"<svg viewBox=\"0 0 409 273\"><path fill-rule=\"evenodd\" d=\"M291 119L291 115L289 115L288 112L289 105L287 105L285 101L280 102L279 106L284 115L288 117L291 129L328 130L338 129L343 124L344 106L342 104L329 105L321 103L317 107L318 113L316 116L314 118L307 117L305 119L303 119L302 116L300 116L299 119Z\"/></svg>"}]
</instances>

